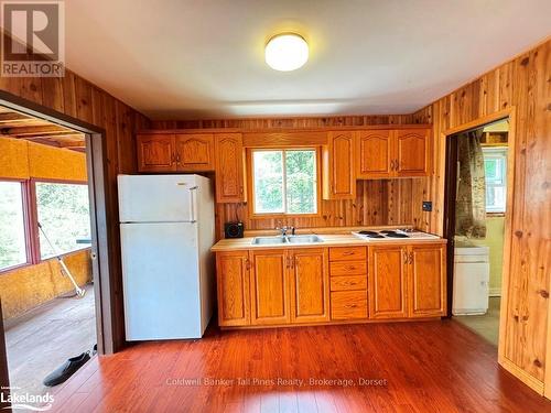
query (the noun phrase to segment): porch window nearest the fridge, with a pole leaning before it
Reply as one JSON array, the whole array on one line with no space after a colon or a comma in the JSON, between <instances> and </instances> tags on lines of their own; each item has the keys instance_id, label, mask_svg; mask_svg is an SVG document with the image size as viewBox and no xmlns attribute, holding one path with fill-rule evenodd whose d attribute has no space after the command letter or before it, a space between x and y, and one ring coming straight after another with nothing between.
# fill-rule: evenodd
<instances>
[{"instance_id":1,"label":"porch window nearest the fridge, with a pole leaning before it","mask_svg":"<svg viewBox=\"0 0 551 413\"><path fill-rule=\"evenodd\" d=\"M40 231L42 260L90 246L88 187L79 184L36 182L39 222L55 251Z\"/></svg>"}]
</instances>

